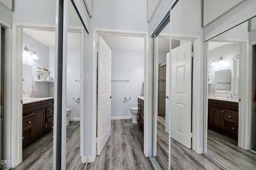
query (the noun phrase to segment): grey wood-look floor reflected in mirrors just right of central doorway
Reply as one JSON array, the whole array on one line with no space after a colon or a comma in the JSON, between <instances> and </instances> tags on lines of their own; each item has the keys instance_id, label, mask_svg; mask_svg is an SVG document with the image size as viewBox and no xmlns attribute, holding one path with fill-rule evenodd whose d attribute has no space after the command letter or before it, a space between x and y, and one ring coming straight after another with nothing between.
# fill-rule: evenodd
<instances>
[{"instance_id":1,"label":"grey wood-look floor reflected in mirrors just right of central doorway","mask_svg":"<svg viewBox=\"0 0 256 170\"><path fill-rule=\"evenodd\" d=\"M168 137L169 134L165 132L164 125L158 121L156 160L163 170L168 170ZM162 158L162 156L165 158ZM192 149L188 149L176 140L171 139L171 169L217 170L220 168L203 154L196 154Z\"/></svg>"}]
</instances>

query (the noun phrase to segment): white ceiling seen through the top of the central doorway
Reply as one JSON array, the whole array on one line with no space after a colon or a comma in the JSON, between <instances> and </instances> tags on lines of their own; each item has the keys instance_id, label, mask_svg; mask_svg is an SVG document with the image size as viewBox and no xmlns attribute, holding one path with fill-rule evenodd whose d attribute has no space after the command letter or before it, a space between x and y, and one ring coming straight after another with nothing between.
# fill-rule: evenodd
<instances>
[{"instance_id":1,"label":"white ceiling seen through the top of the central doorway","mask_svg":"<svg viewBox=\"0 0 256 170\"><path fill-rule=\"evenodd\" d=\"M112 51L144 51L144 38L101 35Z\"/></svg>"}]
</instances>

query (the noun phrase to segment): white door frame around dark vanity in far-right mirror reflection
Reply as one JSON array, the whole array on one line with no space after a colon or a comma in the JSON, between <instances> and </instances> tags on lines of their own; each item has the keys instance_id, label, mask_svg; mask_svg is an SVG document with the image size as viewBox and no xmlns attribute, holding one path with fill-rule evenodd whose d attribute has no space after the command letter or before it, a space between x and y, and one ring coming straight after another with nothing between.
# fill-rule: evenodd
<instances>
[{"instance_id":1,"label":"white door frame around dark vanity in far-right mirror reflection","mask_svg":"<svg viewBox=\"0 0 256 170\"><path fill-rule=\"evenodd\" d=\"M212 38L204 41L204 154L207 154L207 129L208 129L208 41L220 41L220 42L232 42L242 45L243 51L240 51L239 59L239 69L242 69L242 79L240 79L240 88L242 89L242 94L239 94L241 99L241 104L239 104L238 112L243 114L238 114L238 147L248 150L249 138L250 138L250 116L252 115L251 108L252 103L250 103L250 98L252 94L250 93L252 89L252 55L249 54L249 40L236 40L228 38ZM242 64L241 64L242 63ZM240 71L241 72L241 71ZM247 87L247 88L246 88ZM240 92L240 91L239 91ZM207 115L206 115L207 113Z\"/></svg>"}]
</instances>

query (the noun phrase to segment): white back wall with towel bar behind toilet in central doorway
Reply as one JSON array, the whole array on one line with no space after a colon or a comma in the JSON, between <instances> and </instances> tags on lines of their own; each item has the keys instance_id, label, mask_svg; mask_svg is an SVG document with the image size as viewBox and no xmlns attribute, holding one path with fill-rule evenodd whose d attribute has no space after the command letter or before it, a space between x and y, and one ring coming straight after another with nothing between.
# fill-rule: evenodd
<instances>
[{"instance_id":1,"label":"white back wall with towel bar behind toilet in central doorway","mask_svg":"<svg viewBox=\"0 0 256 170\"><path fill-rule=\"evenodd\" d=\"M144 96L144 51L112 51L111 64L112 80L129 80L111 83L111 117L132 116L130 107L138 107L137 96Z\"/></svg>"}]
</instances>

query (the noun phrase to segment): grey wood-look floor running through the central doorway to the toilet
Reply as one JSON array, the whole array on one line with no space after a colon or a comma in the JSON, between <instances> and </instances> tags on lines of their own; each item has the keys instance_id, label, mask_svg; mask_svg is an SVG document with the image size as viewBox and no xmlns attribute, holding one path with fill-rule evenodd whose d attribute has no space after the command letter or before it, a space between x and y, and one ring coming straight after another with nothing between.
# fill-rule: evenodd
<instances>
[{"instance_id":1,"label":"grey wood-look floor running through the central doorway to the toilet","mask_svg":"<svg viewBox=\"0 0 256 170\"><path fill-rule=\"evenodd\" d=\"M153 170L143 153L143 130L130 119L112 120L111 136L88 170Z\"/></svg>"}]
</instances>

